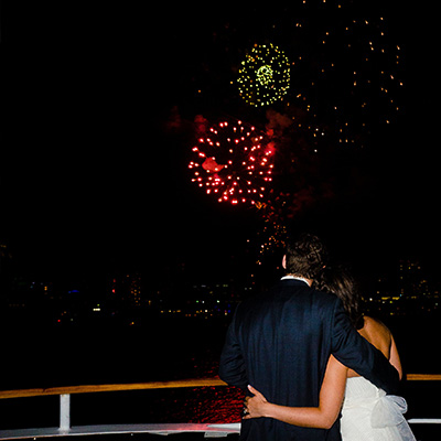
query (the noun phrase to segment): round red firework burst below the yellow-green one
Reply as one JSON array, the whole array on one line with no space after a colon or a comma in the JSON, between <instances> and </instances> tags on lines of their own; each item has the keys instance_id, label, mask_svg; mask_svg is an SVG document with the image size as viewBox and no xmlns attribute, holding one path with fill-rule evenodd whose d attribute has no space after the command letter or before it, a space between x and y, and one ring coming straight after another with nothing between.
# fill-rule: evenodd
<instances>
[{"instance_id":1,"label":"round red firework burst below the yellow-green one","mask_svg":"<svg viewBox=\"0 0 441 441\"><path fill-rule=\"evenodd\" d=\"M265 144L263 135L243 121L212 127L193 152L192 182L218 202L255 204L272 180L272 144Z\"/></svg>"}]
</instances>

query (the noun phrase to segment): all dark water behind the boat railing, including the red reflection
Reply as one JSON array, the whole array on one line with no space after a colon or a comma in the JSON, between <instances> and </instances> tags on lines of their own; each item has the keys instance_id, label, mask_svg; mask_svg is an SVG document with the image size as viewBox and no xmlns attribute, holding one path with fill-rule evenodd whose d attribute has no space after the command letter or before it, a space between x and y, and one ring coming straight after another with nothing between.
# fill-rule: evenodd
<instances>
[{"instance_id":1,"label":"all dark water behind the boat railing, including the red reflection","mask_svg":"<svg viewBox=\"0 0 441 441\"><path fill-rule=\"evenodd\" d=\"M217 375L228 322L161 320L140 327L9 326L2 330L1 389L143 383ZM408 373L441 374L440 323L388 323ZM8 335L8 337L6 337ZM407 381L408 418L441 418L441 381ZM206 387L72 396L72 423L237 422L243 396ZM58 397L0 400L0 429L58 424ZM416 430L423 430L417 428Z\"/></svg>"}]
</instances>

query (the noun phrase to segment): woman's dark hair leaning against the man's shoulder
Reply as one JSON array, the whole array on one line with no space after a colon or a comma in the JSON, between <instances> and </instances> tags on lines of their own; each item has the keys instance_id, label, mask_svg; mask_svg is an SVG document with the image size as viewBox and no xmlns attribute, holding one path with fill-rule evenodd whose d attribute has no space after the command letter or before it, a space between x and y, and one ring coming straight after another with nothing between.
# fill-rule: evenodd
<instances>
[{"instance_id":1,"label":"woman's dark hair leaning against the man's shoulder","mask_svg":"<svg viewBox=\"0 0 441 441\"><path fill-rule=\"evenodd\" d=\"M326 267L315 280L315 288L331 292L342 300L349 320L356 330L364 326L363 298L357 282L343 266Z\"/></svg>"}]
</instances>

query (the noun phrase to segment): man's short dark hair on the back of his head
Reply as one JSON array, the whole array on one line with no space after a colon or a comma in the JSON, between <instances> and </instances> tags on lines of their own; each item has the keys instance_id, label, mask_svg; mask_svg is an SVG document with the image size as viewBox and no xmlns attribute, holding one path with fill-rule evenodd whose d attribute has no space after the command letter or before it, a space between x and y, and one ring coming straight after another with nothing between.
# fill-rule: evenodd
<instances>
[{"instance_id":1,"label":"man's short dark hair on the back of his head","mask_svg":"<svg viewBox=\"0 0 441 441\"><path fill-rule=\"evenodd\" d=\"M303 233L287 244L287 273L315 279L326 265L327 251L319 237Z\"/></svg>"}]
</instances>

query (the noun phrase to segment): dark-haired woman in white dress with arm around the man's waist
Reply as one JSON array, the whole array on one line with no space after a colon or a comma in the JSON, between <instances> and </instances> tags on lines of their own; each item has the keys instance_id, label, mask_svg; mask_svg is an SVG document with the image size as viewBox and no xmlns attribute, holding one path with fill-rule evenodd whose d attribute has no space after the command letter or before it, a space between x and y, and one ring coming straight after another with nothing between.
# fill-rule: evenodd
<instances>
[{"instance_id":1,"label":"dark-haired woman in white dress with arm around the man's waist","mask_svg":"<svg viewBox=\"0 0 441 441\"><path fill-rule=\"evenodd\" d=\"M401 363L390 331L379 321L362 313L362 299L351 275L341 268L326 268L318 289L336 294L343 302L358 333L377 347L402 377ZM255 395L246 399L244 419L275 418L311 428L331 428L342 412L343 441L413 441L415 437L402 413L404 398L386 396L367 379L330 357L316 408L294 408L268 402L252 386ZM343 404L343 408L342 408Z\"/></svg>"}]
</instances>

